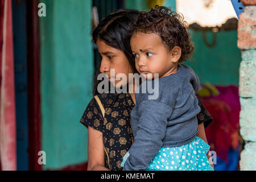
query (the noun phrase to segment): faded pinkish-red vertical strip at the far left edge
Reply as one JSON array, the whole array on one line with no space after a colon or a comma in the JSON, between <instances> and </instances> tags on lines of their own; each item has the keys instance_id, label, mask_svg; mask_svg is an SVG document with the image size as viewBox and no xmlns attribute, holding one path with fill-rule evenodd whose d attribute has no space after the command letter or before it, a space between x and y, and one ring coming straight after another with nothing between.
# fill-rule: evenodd
<instances>
[{"instance_id":1,"label":"faded pinkish-red vertical strip at the far left edge","mask_svg":"<svg viewBox=\"0 0 256 182\"><path fill-rule=\"evenodd\" d=\"M0 159L2 170L16 170L16 123L11 0L3 0L0 96Z\"/></svg>"}]
</instances>

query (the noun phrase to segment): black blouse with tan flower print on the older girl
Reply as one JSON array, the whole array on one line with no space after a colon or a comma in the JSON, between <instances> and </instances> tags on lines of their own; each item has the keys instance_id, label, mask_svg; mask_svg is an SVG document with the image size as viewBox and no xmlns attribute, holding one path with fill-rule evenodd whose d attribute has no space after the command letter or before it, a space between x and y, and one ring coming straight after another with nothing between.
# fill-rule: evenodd
<instances>
[{"instance_id":1,"label":"black blouse with tan flower print on the older girl","mask_svg":"<svg viewBox=\"0 0 256 182\"><path fill-rule=\"evenodd\" d=\"M105 109L105 118L102 117L100 106L93 98L86 107L80 122L86 127L90 126L101 131L105 147L105 167L114 171L121 171L122 157L133 143L131 132L130 113L134 107L133 99L129 93L100 94ZM204 122L207 127L212 122L212 117L199 100L201 112L197 114L199 124Z\"/></svg>"}]
</instances>

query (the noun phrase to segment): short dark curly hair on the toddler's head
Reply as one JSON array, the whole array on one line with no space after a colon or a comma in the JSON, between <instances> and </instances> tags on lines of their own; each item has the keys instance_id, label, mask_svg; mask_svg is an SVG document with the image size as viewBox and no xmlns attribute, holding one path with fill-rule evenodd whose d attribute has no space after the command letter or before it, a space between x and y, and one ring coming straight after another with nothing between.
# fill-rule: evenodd
<instances>
[{"instance_id":1,"label":"short dark curly hair on the toddler's head","mask_svg":"<svg viewBox=\"0 0 256 182\"><path fill-rule=\"evenodd\" d=\"M133 25L132 35L137 32L154 33L162 39L162 43L171 51L175 46L181 48L179 63L192 59L195 49L187 30L188 23L184 16L165 6L156 5L150 11L142 11Z\"/></svg>"}]
</instances>

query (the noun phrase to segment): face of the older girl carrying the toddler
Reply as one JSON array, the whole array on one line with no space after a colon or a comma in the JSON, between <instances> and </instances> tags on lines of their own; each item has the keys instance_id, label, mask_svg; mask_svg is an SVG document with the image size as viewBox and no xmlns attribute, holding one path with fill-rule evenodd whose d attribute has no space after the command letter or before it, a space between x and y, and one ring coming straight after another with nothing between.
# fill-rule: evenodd
<instances>
[{"instance_id":1,"label":"face of the older girl carrying the toddler","mask_svg":"<svg viewBox=\"0 0 256 182\"><path fill-rule=\"evenodd\" d=\"M133 73L131 65L125 56L125 53L119 49L108 46L104 40L98 39L97 42L98 52L100 53L101 67L100 72L105 73L109 77L109 81L116 87L121 87L129 82L129 73ZM114 69L114 74L110 75L110 69ZM126 75L126 79L118 76L118 73Z\"/></svg>"}]
</instances>

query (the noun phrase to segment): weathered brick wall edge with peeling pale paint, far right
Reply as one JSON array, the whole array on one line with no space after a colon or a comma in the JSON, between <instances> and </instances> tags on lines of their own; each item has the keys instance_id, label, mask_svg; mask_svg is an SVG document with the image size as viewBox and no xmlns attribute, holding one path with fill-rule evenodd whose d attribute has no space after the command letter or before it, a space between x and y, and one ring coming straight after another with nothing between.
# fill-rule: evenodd
<instances>
[{"instance_id":1,"label":"weathered brick wall edge with peeling pale paint, far right","mask_svg":"<svg viewBox=\"0 0 256 182\"><path fill-rule=\"evenodd\" d=\"M238 23L240 65L240 133L245 140L241 152L241 170L256 170L256 0L242 0L245 11Z\"/></svg>"}]
</instances>

